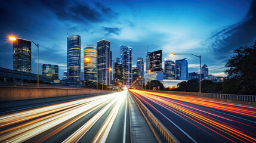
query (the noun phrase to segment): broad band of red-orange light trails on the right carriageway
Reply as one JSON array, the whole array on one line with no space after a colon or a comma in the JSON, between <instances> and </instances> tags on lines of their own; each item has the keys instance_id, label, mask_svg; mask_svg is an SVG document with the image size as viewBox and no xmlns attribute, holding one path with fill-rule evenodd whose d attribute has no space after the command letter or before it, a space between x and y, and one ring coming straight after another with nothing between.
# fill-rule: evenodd
<instances>
[{"instance_id":1,"label":"broad band of red-orange light trails on the right carriageway","mask_svg":"<svg viewBox=\"0 0 256 143\"><path fill-rule=\"evenodd\" d=\"M229 142L256 142L256 133L251 131L256 130L256 108L254 107L158 92L130 91L156 114L161 112L169 119L173 119L171 114L175 114L178 118L175 120L182 119L183 122L189 122L195 128L208 133L209 136L214 132ZM250 120L238 116L249 117ZM251 132L246 130L247 128L251 129Z\"/></svg>"}]
</instances>

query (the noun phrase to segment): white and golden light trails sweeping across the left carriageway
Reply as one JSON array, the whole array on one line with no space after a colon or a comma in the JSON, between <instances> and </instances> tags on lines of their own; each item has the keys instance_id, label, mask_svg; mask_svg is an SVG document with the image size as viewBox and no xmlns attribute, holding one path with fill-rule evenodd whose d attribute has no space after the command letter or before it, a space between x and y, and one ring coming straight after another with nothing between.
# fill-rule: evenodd
<instances>
[{"instance_id":1,"label":"white and golden light trails sweeping across the left carriageway","mask_svg":"<svg viewBox=\"0 0 256 143\"><path fill-rule=\"evenodd\" d=\"M48 135L38 140L38 142L45 141L45 139L50 138L50 136L53 136L61 129L64 129L73 122L76 122L76 120L81 119L81 117L87 115L91 111L94 111L96 108L106 105L106 108L103 108L107 110L114 104L114 102L122 101L122 96L120 94L121 92L117 92L114 94L89 97L82 100L69 101L4 114L3 116L0 116L0 128L5 127L7 129L0 132L0 142L24 142L39 133L69 120L69 122L61 125L53 132L48 133ZM103 113L105 113L105 111L102 111L101 109L101 111L97 113L97 116L90 120L90 123L87 125L90 124L92 126ZM26 120L30 121L26 122ZM10 126L10 128L8 128L8 126Z\"/></svg>"}]
</instances>

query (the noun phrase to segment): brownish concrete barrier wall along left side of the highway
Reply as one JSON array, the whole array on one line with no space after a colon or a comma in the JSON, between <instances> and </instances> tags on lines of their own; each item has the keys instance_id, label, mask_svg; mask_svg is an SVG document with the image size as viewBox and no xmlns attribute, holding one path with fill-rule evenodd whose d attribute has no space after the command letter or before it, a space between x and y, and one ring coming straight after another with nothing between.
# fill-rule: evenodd
<instances>
[{"instance_id":1,"label":"brownish concrete barrier wall along left side of the highway","mask_svg":"<svg viewBox=\"0 0 256 143\"><path fill-rule=\"evenodd\" d=\"M113 91L70 88L25 88L0 86L0 102L38 98L66 97L70 95L104 94Z\"/></svg>"}]
</instances>

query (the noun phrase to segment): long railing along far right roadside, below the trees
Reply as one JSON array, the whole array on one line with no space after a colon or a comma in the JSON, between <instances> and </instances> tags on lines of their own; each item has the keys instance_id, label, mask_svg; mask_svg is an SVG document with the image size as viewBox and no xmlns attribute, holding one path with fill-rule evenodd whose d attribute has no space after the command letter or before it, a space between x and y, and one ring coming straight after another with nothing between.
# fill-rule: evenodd
<instances>
[{"instance_id":1,"label":"long railing along far right roadside, below the trees","mask_svg":"<svg viewBox=\"0 0 256 143\"><path fill-rule=\"evenodd\" d=\"M145 90L145 91L150 91L150 90ZM209 93L178 92L178 91L156 91L156 92L164 92L164 93L176 94L176 95L190 95L190 96L196 96L196 97L218 98L222 100L256 102L256 95L209 94Z\"/></svg>"}]
</instances>

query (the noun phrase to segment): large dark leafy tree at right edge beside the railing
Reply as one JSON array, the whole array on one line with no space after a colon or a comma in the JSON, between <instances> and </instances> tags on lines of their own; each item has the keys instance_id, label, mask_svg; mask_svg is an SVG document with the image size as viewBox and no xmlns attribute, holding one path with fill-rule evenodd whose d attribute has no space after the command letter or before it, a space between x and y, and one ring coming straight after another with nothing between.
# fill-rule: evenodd
<instances>
[{"instance_id":1,"label":"large dark leafy tree at right edge beside the railing","mask_svg":"<svg viewBox=\"0 0 256 143\"><path fill-rule=\"evenodd\" d=\"M256 95L256 41L251 46L241 46L233 51L225 70L223 94Z\"/></svg>"}]
</instances>

